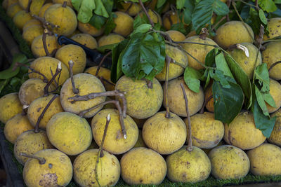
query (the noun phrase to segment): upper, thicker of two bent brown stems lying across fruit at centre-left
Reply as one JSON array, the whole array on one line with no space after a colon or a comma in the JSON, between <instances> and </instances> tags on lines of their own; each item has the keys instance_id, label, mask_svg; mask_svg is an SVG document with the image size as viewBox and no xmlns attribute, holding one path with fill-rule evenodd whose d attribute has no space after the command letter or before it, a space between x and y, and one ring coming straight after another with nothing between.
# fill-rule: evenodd
<instances>
[{"instance_id":1,"label":"upper, thicker of two bent brown stems lying across fruit at centre-left","mask_svg":"<svg viewBox=\"0 0 281 187\"><path fill-rule=\"evenodd\" d=\"M77 101L88 101L89 99L95 99L96 97L104 97L104 96L118 96L122 99L123 102L123 117L126 118L126 109L127 109L127 100L123 92L119 90L112 90L107 92L96 92L90 93L89 95L75 95L74 97L68 97L72 102ZM83 115L84 116L84 115Z\"/></svg>"}]
</instances>

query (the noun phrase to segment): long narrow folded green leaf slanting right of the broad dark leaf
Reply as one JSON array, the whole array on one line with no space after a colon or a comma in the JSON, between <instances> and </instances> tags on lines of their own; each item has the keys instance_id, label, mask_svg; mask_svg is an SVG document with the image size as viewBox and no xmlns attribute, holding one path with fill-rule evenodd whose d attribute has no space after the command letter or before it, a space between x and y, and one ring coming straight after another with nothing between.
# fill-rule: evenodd
<instances>
[{"instance_id":1,"label":"long narrow folded green leaf slanting right of the broad dark leaf","mask_svg":"<svg viewBox=\"0 0 281 187\"><path fill-rule=\"evenodd\" d=\"M249 77L244 72L244 70L235 62L233 57L231 57L229 54L225 55L226 62L228 63L228 67L233 74L235 81L241 86L245 97L248 99L247 109L251 106L252 102L252 90L251 90L251 82L249 80Z\"/></svg>"}]
</instances>

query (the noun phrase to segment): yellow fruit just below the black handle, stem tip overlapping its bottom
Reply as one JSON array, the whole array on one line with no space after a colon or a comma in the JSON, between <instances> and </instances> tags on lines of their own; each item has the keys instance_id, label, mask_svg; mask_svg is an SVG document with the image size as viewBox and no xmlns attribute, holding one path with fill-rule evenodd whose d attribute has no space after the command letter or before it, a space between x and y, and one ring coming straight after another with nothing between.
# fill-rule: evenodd
<instances>
[{"instance_id":1,"label":"yellow fruit just below the black handle, stem tip overlapping its bottom","mask_svg":"<svg viewBox=\"0 0 281 187\"><path fill-rule=\"evenodd\" d=\"M86 53L80 46L73 44L65 45L58 49L57 53L55 53L55 58L63 62L69 71L70 66L68 62L72 60L74 62L72 67L73 74L82 73L86 67Z\"/></svg>"}]
</instances>

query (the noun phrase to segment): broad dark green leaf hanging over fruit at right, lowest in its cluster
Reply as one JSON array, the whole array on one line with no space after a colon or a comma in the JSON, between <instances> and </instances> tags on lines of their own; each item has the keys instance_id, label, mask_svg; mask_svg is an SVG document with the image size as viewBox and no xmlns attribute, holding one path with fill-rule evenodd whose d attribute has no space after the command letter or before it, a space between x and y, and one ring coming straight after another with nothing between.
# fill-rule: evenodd
<instances>
[{"instance_id":1,"label":"broad dark green leaf hanging over fruit at right, lowest in its cluster","mask_svg":"<svg viewBox=\"0 0 281 187\"><path fill-rule=\"evenodd\" d=\"M214 81L212 87L215 119L228 124L240 113L244 102L240 85L229 84L230 88L223 88L221 83Z\"/></svg>"}]
</instances>

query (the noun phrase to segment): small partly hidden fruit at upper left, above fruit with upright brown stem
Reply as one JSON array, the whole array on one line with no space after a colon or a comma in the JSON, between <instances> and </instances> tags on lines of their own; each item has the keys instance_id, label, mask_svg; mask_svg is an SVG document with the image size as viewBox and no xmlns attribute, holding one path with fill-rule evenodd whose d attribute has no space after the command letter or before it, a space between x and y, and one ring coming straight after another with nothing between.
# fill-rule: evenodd
<instances>
[{"instance_id":1,"label":"small partly hidden fruit at upper left, above fruit with upright brown stem","mask_svg":"<svg viewBox=\"0 0 281 187\"><path fill-rule=\"evenodd\" d=\"M30 27L25 27L22 32L22 38L27 41L28 45L31 46L32 41L37 37L43 34L44 29L41 25L33 25Z\"/></svg>"}]
</instances>

